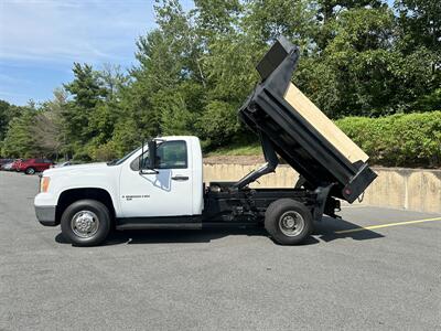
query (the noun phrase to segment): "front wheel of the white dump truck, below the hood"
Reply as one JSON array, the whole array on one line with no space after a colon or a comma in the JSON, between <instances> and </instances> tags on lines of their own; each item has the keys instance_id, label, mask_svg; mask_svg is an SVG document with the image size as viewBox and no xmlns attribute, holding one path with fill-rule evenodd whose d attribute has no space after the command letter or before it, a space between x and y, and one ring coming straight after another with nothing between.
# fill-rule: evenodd
<instances>
[{"instance_id":1,"label":"front wheel of the white dump truck, below the hood","mask_svg":"<svg viewBox=\"0 0 441 331\"><path fill-rule=\"evenodd\" d=\"M76 246L96 246L108 236L111 217L96 200L78 200L66 207L61 220L63 235Z\"/></svg>"}]
</instances>

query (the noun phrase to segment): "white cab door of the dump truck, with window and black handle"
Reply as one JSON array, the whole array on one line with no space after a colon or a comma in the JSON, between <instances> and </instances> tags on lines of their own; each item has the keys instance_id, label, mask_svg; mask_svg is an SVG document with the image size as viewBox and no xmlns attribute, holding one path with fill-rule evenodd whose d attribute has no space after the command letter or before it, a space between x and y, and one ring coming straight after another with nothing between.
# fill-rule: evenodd
<instances>
[{"instance_id":1,"label":"white cab door of the dump truck, with window and black handle","mask_svg":"<svg viewBox=\"0 0 441 331\"><path fill-rule=\"evenodd\" d=\"M139 160L125 164L120 177L123 217L163 217L192 214L191 154L185 140L158 142L157 172L139 172ZM148 152L142 157L148 164Z\"/></svg>"}]
</instances>

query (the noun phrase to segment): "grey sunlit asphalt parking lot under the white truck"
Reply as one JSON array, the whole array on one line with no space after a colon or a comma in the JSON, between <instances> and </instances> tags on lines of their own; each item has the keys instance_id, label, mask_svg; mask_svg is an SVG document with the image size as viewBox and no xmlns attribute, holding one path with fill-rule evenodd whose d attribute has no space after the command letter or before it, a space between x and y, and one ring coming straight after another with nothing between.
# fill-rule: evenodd
<instances>
[{"instance_id":1,"label":"grey sunlit asphalt parking lot under the white truck","mask_svg":"<svg viewBox=\"0 0 441 331\"><path fill-rule=\"evenodd\" d=\"M344 207L293 247L223 229L79 248L36 222L37 181L0 172L0 330L441 330L441 215Z\"/></svg>"}]
</instances>

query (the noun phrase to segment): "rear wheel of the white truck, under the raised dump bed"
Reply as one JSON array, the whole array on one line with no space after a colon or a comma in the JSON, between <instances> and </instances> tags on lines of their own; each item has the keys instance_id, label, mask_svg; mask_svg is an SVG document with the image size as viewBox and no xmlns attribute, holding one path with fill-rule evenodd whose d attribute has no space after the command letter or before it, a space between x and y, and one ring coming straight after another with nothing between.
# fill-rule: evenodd
<instances>
[{"instance_id":1,"label":"rear wheel of the white truck, under the raised dump bed","mask_svg":"<svg viewBox=\"0 0 441 331\"><path fill-rule=\"evenodd\" d=\"M280 245L300 244L312 233L313 225L310 210L291 199L276 200L265 213L265 228Z\"/></svg>"}]
</instances>

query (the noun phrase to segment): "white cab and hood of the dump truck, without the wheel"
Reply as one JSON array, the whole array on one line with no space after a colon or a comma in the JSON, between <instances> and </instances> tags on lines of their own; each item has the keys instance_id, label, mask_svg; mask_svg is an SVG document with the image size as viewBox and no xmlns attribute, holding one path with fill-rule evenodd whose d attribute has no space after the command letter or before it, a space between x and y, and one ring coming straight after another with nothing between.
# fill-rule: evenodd
<instances>
[{"instance_id":1,"label":"white cab and hood of the dump truck, without the wheel","mask_svg":"<svg viewBox=\"0 0 441 331\"><path fill-rule=\"evenodd\" d=\"M46 170L34 200L40 222L60 224L75 195L97 199L125 224L148 217L201 215L204 202L198 138L161 137L155 141L154 170L143 167L149 158L147 146L109 163Z\"/></svg>"}]
</instances>

